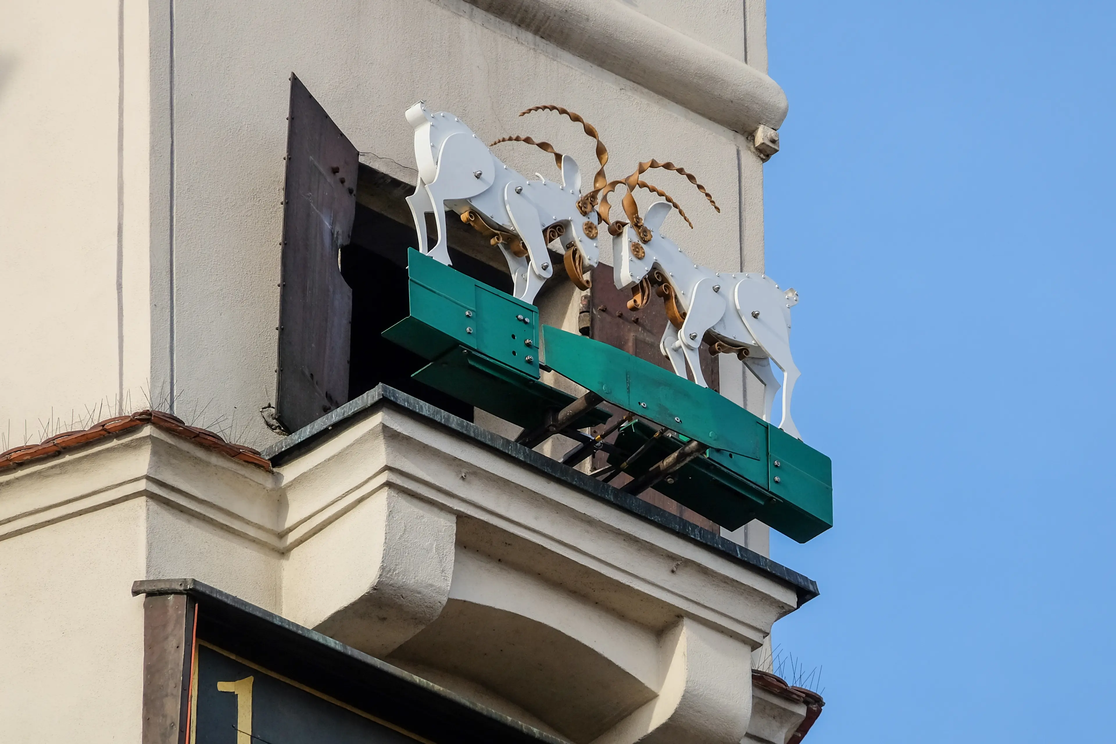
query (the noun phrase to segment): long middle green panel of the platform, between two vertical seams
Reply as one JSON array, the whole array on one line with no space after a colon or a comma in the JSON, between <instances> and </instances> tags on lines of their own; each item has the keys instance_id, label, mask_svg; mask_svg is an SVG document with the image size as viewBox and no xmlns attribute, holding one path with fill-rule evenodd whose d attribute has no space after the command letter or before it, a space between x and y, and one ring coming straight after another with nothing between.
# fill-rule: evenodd
<instances>
[{"instance_id":1,"label":"long middle green panel of the platform, between two vertical seams","mask_svg":"<svg viewBox=\"0 0 1116 744\"><path fill-rule=\"evenodd\" d=\"M753 460L767 458L768 425L724 396L591 338L547 326L546 363L605 400Z\"/></svg>"}]
</instances>

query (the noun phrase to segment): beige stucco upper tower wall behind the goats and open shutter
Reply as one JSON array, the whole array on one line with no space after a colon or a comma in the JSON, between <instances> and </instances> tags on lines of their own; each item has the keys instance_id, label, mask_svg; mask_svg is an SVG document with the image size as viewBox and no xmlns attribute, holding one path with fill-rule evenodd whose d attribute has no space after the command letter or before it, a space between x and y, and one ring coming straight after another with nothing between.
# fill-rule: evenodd
<instances>
[{"instance_id":1,"label":"beige stucco upper tower wall behind the goats and open shutter","mask_svg":"<svg viewBox=\"0 0 1116 744\"><path fill-rule=\"evenodd\" d=\"M651 80L652 91L608 71L599 49L579 50L590 61L483 4L20 7L19 22L0 31L11 37L0 51L0 153L20 175L0 186L0 222L10 225L0 233L9 268L0 302L21 319L7 339L7 356L19 363L0 366L8 446L25 442L25 426L35 441L119 398L249 445L275 441L259 409L275 403L292 71L362 160L407 181L414 156L403 110L420 98L487 139L554 142L588 182L591 141L577 126L554 114L516 116L540 103L577 110L609 147L609 176L641 160L672 160L714 195L720 213L681 177L652 174L694 220L690 230L672 215L665 229L696 261L762 268L762 163L747 133L674 103L684 91ZM670 48L648 48L634 64L682 49L766 67L762 2L577 7L648 19ZM497 152L525 174L557 175L533 148ZM742 399L740 385L725 394Z\"/></svg>"}]
</instances>

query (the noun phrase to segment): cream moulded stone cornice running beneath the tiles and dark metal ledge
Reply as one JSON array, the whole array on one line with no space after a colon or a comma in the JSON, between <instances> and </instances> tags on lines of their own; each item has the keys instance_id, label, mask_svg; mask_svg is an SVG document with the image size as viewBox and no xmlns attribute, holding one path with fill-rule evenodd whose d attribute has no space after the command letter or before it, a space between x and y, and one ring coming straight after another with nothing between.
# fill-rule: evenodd
<instances>
[{"instance_id":1,"label":"cream moulded stone cornice running beneath the tiles and dark metal ledge","mask_svg":"<svg viewBox=\"0 0 1116 744\"><path fill-rule=\"evenodd\" d=\"M148 499L281 560L369 499L395 493L455 515L470 548L589 591L647 627L684 615L754 647L799 603L795 587L759 567L386 403L273 472L151 425L28 464L0 475L0 540Z\"/></svg>"}]
</instances>

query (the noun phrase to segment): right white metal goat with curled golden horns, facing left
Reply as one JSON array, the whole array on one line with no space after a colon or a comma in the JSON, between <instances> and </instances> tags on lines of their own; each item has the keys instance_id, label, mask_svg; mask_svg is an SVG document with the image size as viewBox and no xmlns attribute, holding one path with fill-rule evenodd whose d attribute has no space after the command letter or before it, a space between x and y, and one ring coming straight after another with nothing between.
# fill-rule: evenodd
<instances>
[{"instance_id":1,"label":"right white metal goat with curled golden horns, facing left","mask_svg":"<svg viewBox=\"0 0 1116 744\"><path fill-rule=\"evenodd\" d=\"M779 428L801 438L790 415L790 399L799 371L790 355L790 308L798 302L798 292L783 291L763 273L714 271L699 265L674 241L662 234L663 220L671 207L685 212L667 194L639 180L648 168L663 167L686 176L720 212L712 196L691 174L673 163L647 161L624 181L610 182L600 195L597 207L608 221L608 193L618 184L627 186L624 211L628 222L609 225L613 234L613 271L617 289L632 289L628 308L636 310L651 299L652 284L666 305L668 322L660 349L671 360L674 371L686 377L686 366L694 381L706 387L698 351L708 342L714 352L737 354L763 381L763 421L771 421L771 407L780 383L770 361L783 373L782 421ZM632 192L636 187L664 196L639 216ZM690 223L693 228L693 224Z\"/></svg>"}]
</instances>

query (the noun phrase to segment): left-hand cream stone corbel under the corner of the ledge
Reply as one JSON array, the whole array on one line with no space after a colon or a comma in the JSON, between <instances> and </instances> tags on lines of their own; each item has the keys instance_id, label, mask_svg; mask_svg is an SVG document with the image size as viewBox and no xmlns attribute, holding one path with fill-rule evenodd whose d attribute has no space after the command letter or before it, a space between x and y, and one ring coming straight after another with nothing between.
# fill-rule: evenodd
<instances>
[{"instance_id":1,"label":"left-hand cream stone corbel under the corner of the ledge","mask_svg":"<svg viewBox=\"0 0 1116 744\"><path fill-rule=\"evenodd\" d=\"M455 533L453 514L381 490L290 553L283 615L386 656L445 607Z\"/></svg>"}]
</instances>

